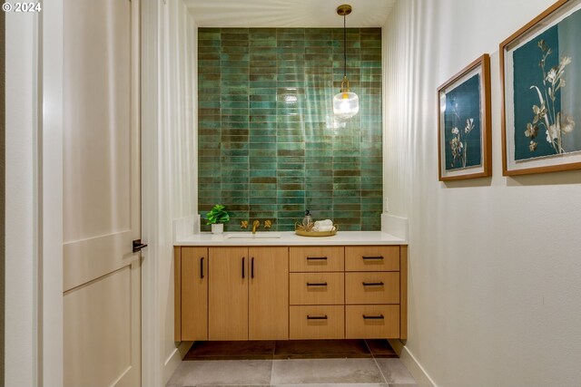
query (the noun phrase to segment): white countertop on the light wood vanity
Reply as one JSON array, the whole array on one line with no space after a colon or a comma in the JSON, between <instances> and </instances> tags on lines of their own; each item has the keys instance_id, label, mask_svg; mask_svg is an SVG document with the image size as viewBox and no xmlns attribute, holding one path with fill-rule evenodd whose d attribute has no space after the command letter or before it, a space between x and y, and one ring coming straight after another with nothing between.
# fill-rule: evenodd
<instances>
[{"instance_id":1,"label":"white countertop on the light wood vanity","mask_svg":"<svg viewBox=\"0 0 581 387\"><path fill-rule=\"evenodd\" d=\"M408 241L382 231L339 231L332 237L300 237L294 231L200 233L178 237L174 246L365 246L407 245ZM234 235L235 237L231 237ZM244 237L236 237L236 236ZM280 236L280 237L272 237Z\"/></svg>"}]
</instances>

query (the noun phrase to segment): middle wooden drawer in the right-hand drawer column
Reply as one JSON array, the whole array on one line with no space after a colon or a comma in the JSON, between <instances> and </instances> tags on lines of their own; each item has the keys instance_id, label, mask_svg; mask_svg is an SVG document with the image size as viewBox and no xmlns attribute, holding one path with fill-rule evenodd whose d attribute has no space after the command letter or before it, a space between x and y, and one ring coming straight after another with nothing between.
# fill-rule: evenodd
<instances>
[{"instance_id":1,"label":"middle wooden drawer in the right-hand drawer column","mask_svg":"<svg viewBox=\"0 0 581 387\"><path fill-rule=\"evenodd\" d=\"M346 273L345 304L399 304L399 272Z\"/></svg>"}]
</instances>

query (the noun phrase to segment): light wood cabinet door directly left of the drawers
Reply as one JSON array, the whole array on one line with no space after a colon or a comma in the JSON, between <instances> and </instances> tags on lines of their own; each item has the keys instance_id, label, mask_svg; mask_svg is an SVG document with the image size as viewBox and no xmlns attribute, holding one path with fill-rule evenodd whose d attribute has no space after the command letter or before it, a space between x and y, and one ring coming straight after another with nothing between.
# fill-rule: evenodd
<instances>
[{"instance_id":1,"label":"light wood cabinet door directly left of the drawers","mask_svg":"<svg viewBox=\"0 0 581 387\"><path fill-rule=\"evenodd\" d=\"M289 338L288 247L249 247L249 339Z\"/></svg>"}]
</instances>

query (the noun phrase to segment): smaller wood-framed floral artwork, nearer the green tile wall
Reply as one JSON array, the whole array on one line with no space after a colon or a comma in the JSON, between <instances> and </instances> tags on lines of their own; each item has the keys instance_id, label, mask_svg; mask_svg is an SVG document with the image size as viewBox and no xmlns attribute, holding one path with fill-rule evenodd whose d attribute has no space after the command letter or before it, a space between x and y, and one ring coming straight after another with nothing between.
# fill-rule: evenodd
<instances>
[{"instance_id":1,"label":"smaller wood-framed floral artwork, nearer the green tile wall","mask_svg":"<svg viewBox=\"0 0 581 387\"><path fill-rule=\"evenodd\" d=\"M440 181L490 176L490 56L438 87Z\"/></svg>"}]
</instances>

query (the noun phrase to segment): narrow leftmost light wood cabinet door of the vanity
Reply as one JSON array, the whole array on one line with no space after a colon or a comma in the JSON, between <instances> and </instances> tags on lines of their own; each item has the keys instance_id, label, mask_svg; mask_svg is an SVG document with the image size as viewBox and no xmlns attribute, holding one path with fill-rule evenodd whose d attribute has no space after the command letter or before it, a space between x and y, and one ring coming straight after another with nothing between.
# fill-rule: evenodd
<instances>
[{"instance_id":1,"label":"narrow leftmost light wood cabinet door of the vanity","mask_svg":"<svg viewBox=\"0 0 581 387\"><path fill-rule=\"evenodd\" d=\"M208 340L208 249L182 247L182 341Z\"/></svg>"}]
</instances>

